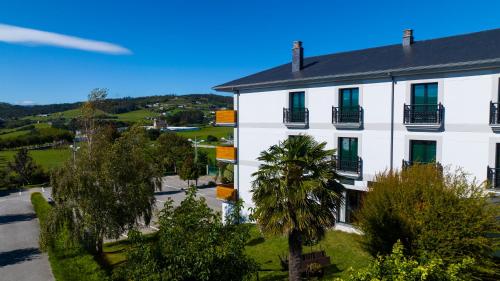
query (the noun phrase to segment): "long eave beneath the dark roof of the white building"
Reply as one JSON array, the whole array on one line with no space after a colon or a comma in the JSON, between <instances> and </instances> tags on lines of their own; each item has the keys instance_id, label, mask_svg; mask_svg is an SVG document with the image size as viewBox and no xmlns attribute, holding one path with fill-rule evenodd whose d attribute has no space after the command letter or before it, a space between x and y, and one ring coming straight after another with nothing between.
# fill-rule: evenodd
<instances>
[{"instance_id":1,"label":"long eave beneath the dark roof of the white building","mask_svg":"<svg viewBox=\"0 0 500 281\"><path fill-rule=\"evenodd\" d=\"M490 69L498 67L500 67L500 58L449 63L449 64L417 66L409 68L386 69L386 70L377 70L370 72L348 73L341 75L317 76L317 77L302 78L302 79L267 81L260 83L251 83L251 84L234 84L227 86L224 86L224 84L222 84L219 86L215 86L212 89L219 92L234 92L240 90L262 89L262 88L280 87L280 86L298 86L303 84L345 82L345 81L354 81L363 79L380 79L391 76L395 77L395 76L419 75L419 74L429 74L429 73L481 70L481 69Z\"/></svg>"}]
</instances>

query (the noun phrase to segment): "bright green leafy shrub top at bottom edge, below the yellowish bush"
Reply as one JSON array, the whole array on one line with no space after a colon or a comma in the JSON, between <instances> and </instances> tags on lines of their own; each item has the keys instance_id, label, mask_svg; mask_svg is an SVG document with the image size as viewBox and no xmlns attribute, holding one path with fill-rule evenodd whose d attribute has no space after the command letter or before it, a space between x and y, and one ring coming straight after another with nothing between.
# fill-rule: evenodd
<instances>
[{"instance_id":1,"label":"bright green leafy shrub top at bottom edge, below the yellowish bush","mask_svg":"<svg viewBox=\"0 0 500 281\"><path fill-rule=\"evenodd\" d=\"M346 281L466 281L471 280L469 273L474 259L464 258L458 263L445 265L440 258L430 258L417 261L407 258L403 244L394 244L392 253L388 256L379 256L366 269L351 275Z\"/></svg>"}]
</instances>

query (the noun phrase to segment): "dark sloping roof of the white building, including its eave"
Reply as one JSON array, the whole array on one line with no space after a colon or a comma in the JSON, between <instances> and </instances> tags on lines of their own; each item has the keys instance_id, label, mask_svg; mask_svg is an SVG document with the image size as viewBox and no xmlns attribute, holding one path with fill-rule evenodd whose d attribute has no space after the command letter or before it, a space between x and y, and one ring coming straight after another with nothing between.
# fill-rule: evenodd
<instances>
[{"instance_id":1,"label":"dark sloping roof of the white building, including its eave","mask_svg":"<svg viewBox=\"0 0 500 281\"><path fill-rule=\"evenodd\" d=\"M219 91L245 88L381 77L423 70L500 66L500 28L432 40L411 46L395 44L358 51L304 58L301 71L283 64L214 87Z\"/></svg>"}]
</instances>

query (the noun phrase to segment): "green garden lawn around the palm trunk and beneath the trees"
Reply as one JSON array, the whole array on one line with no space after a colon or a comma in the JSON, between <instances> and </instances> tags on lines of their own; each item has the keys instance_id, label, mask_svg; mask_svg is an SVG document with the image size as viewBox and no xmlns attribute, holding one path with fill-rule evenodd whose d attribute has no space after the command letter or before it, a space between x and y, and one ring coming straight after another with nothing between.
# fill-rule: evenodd
<instances>
[{"instance_id":1,"label":"green garden lawn around the palm trunk and beneath the trees","mask_svg":"<svg viewBox=\"0 0 500 281\"><path fill-rule=\"evenodd\" d=\"M349 269L356 271L366 267L371 257L360 246L356 234L341 231L329 231L319 245L304 247L304 252L325 250L331 259L323 280L345 277ZM104 245L104 261L112 268L126 261L128 241L123 240ZM287 280L288 272L280 268L278 255L287 256L288 244L286 237L264 237L256 226L251 229L251 238L246 246L246 252L260 265L259 280Z\"/></svg>"}]
</instances>

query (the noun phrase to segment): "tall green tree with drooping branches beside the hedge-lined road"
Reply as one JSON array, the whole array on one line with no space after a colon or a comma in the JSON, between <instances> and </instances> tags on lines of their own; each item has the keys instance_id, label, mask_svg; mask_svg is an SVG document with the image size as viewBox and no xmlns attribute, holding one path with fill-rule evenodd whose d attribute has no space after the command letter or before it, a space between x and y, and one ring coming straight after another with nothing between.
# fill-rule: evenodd
<instances>
[{"instance_id":1,"label":"tall green tree with drooping branches beside the hedge-lined road","mask_svg":"<svg viewBox=\"0 0 500 281\"><path fill-rule=\"evenodd\" d=\"M160 173L143 128L132 127L114 139L113 130L85 123L86 145L74 162L52 174L56 204L46 233L56 236L67 228L74 240L100 253L104 238L118 238L140 219L149 223Z\"/></svg>"}]
</instances>

